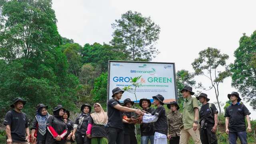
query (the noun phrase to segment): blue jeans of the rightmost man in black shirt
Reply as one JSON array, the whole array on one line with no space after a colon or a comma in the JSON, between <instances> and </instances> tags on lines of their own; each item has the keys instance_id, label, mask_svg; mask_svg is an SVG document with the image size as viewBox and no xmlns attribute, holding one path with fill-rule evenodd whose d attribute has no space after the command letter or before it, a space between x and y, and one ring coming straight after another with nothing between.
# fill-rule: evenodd
<instances>
[{"instance_id":1,"label":"blue jeans of the rightmost man in black shirt","mask_svg":"<svg viewBox=\"0 0 256 144\"><path fill-rule=\"evenodd\" d=\"M236 144L237 137L239 138L241 144L247 144L247 133L244 132L229 132L228 140L229 144Z\"/></svg>"}]
</instances>

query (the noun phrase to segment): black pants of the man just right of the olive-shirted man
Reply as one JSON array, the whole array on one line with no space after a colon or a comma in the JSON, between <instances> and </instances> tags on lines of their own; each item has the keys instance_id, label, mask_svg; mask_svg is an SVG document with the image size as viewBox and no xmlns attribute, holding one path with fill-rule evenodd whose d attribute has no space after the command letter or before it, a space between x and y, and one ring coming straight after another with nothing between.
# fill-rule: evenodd
<instances>
[{"instance_id":1,"label":"black pants of the man just right of the olive-shirted man","mask_svg":"<svg viewBox=\"0 0 256 144\"><path fill-rule=\"evenodd\" d=\"M213 125L207 125L200 129L200 139L202 144L217 144L216 134L212 132Z\"/></svg>"}]
</instances>

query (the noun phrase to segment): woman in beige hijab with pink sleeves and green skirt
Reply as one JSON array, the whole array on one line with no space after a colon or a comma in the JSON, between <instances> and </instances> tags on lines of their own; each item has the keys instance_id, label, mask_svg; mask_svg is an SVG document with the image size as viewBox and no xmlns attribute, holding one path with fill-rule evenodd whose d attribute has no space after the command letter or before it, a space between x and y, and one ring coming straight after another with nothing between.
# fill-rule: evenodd
<instances>
[{"instance_id":1,"label":"woman in beige hijab with pink sleeves and green skirt","mask_svg":"<svg viewBox=\"0 0 256 144\"><path fill-rule=\"evenodd\" d=\"M108 144L105 125L108 123L108 115L99 103L94 104L94 113L91 114L92 124L88 125L86 132L91 137L91 144Z\"/></svg>"}]
</instances>

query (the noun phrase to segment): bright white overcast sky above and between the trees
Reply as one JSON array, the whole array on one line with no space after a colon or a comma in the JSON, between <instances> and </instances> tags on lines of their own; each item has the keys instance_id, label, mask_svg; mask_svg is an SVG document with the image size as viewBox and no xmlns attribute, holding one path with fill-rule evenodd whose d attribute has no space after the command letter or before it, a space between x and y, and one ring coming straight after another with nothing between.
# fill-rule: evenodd
<instances>
[{"instance_id":1,"label":"bright white overcast sky above and between the trees","mask_svg":"<svg viewBox=\"0 0 256 144\"><path fill-rule=\"evenodd\" d=\"M156 44L160 54L152 62L174 62L176 71L189 72L193 72L191 63L198 53L208 47L228 54L227 64L234 62L243 33L250 36L256 30L255 6L255 0L52 0L58 32L82 46L110 42L111 24L128 10L150 16L161 28ZM204 76L195 80L210 86ZM227 94L237 91L231 81L226 78L220 84L220 102L225 103ZM214 90L202 92L216 102ZM245 105L256 119L256 111L249 103Z\"/></svg>"}]
</instances>

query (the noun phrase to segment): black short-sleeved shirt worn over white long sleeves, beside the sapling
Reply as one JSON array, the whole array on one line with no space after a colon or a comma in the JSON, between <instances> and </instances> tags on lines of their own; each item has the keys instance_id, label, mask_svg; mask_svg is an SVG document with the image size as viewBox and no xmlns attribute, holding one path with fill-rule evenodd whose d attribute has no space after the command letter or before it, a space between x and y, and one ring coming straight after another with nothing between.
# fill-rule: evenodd
<instances>
[{"instance_id":1,"label":"black short-sleeved shirt worn over white long sleeves, beside the sapling","mask_svg":"<svg viewBox=\"0 0 256 144\"><path fill-rule=\"evenodd\" d=\"M151 114L158 117L158 120L154 122L154 132L159 132L161 134L167 135L168 124L164 107L162 105L159 106Z\"/></svg>"}]
</instances>

